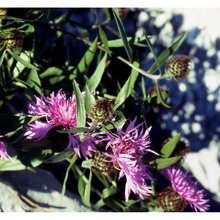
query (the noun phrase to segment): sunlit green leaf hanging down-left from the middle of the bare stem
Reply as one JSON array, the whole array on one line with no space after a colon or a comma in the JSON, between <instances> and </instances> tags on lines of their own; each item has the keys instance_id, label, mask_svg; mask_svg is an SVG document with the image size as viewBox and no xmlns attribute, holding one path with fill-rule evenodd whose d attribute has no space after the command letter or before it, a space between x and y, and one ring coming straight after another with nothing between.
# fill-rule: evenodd
<instances>
[{"instance_id":1,"label":"sunlit green leaf hanging down-left from the middle of the bare stem","mask_svg":"<svg viewBox=\"0 0 220 220\"><path fill-rule=\"evenodd\" d=\"M135 67L139 67L139 62L134 61L133 65ZM127 81L125 82L125 84L123 85L123 87L121 88L120 92L118 93L115 99L114 110L116 110L121 104L123 104L125 100L130 96L134 88L137 77L138 77L138 72L132 68L130 77L127 79Z\"/></svg>"}]
</instances>

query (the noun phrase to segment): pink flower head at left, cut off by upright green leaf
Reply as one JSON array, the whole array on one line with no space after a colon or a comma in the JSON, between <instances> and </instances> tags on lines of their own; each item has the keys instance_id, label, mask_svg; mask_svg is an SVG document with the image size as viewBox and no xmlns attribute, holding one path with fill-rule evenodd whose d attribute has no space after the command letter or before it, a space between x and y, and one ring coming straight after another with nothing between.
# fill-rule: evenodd
<instances>
[{"instance_id":1,"label":"pink flower head at left, cut off by upright green leaf","mask_svg":"<svg viewBox=\"0 0 220 220\"><path fill-rule=\"evenodd\" d=\"M59 91L56 95L51 93L49 97L36 97L36 101L29 104L28 110L34 116L46 117L46 121L38 119L27 126L25 136L28 139L41 139L53 127L69 129L77 126L74 94L67 98L64 92Z\"/></svg>"}]
</instances>

